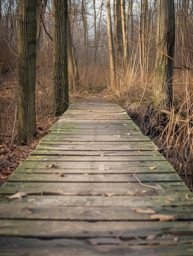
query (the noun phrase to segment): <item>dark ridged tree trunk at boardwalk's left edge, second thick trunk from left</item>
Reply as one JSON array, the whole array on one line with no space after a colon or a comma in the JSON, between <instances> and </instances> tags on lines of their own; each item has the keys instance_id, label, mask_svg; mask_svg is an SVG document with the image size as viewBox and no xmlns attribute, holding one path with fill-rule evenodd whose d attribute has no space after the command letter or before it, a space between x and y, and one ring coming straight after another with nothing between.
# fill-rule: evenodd
<instances>
[{"instance_id":1,"label":"dark ridged tree trunk at boardwalk's left edge, second thick trunk from left","mask_svg":"<svg viewBox=\"0 0 193 256\"><path fill-rule=\"evenodd\" d=\"M67 1L53 0L54 111L62 115L68 108Z\"/></svg>"}]
</instances>

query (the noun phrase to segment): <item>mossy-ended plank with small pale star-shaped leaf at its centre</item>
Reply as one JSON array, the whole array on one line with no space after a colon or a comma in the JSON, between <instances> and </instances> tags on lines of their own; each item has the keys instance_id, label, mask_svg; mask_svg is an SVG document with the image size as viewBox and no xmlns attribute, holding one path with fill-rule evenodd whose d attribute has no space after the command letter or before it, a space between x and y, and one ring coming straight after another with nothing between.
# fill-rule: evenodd
<instances>
[{"instance_id":1,"label":"mossy-ended plank with small pale star-shaped leaf at its centre","mask_svg":"<svg viewBox=\"0 0 193 256\"><path fill-rule=\"evenodd\" d=\"M127 162L105 162L105 161L92 161L92 162L64 162L58 159L46 158L42 161L33 161L29 158L23 162L17 171L25 172L31 169L31 172L36 172L36 169L41 169L42 173L65 172L67 173L175 173L175 170L167 161L127 161ZM34 171L33 171L34 170ZM30 171L30 170L29 170Z\"/></svg>"}]
</instances>

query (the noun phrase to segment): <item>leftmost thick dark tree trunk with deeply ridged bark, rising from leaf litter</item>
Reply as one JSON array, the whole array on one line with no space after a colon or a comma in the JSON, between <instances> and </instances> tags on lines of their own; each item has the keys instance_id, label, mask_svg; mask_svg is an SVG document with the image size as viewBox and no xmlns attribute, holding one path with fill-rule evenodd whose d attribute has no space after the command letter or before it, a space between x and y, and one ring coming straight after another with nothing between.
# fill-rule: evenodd
<instances>
[{"instance_id":1,"label":"leftmost thick dark tree trunk with deeply ridged bark, rising from leaf litter","mask_svg":"<svg viewBox=\"0 0 193 256\"><path fill-rule=\"evenodd\" d=\"M29 143L36 136L36 4L20 0L18 71L18 141Z\"/></svg>"}]
</instances>

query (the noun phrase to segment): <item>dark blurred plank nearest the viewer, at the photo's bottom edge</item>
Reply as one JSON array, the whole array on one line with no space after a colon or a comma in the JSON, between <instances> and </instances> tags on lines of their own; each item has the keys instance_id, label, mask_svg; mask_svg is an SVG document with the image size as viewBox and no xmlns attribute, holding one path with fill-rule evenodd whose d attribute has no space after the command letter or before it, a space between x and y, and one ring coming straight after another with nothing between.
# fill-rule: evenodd
<instances>
[{"instance_id":1,"label":"dark blurred plank nearest the viewer, at the photo's bottom edge","mask_svg":"<svg viewBox=\"0 0 193 256\"><path fill-rule=\"evenodd\" d=\"M191 242L180 237L178 242L174 239L157 238L156 240L123 241L121 239L101 239L99 245L93 246L89 240L53 239L41 240L36 238L1 238L0 254L3 256L192 256ZM91 240L90 240L91 241ZM92 240L94 243L96 240ZM138 244L137 244L137 243ZM96 243L96 242L95 242ZM135 244L135 245L133 245ZM142 245L141 245L142 244ZM8 247L11 245L11 249ZM174 246L175 245L175 246ZM56 250L57 248L57 250Z\"/></svg>"}]
</instances>

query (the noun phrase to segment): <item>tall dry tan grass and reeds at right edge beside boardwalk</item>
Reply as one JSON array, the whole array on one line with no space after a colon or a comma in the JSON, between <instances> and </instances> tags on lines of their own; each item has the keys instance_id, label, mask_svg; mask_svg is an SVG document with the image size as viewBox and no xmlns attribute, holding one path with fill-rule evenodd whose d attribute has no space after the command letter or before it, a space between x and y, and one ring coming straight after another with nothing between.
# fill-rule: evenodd
<instances>
[{"instance_id":1,"label":"tall dry tan grass and reeds at right edge beside boardwalk","mask_svg":"<svg viewBox=\"0 0 193 256\"><path fill-rule=\"evenodd\" d=\"M193 108L190 98L186 93L186 99L178 106L178 113L175 114L173 108L168 115L168 124L160 137L159 145L166 148L166 159L193 190Z\"/></svg>"}]
</instances>

